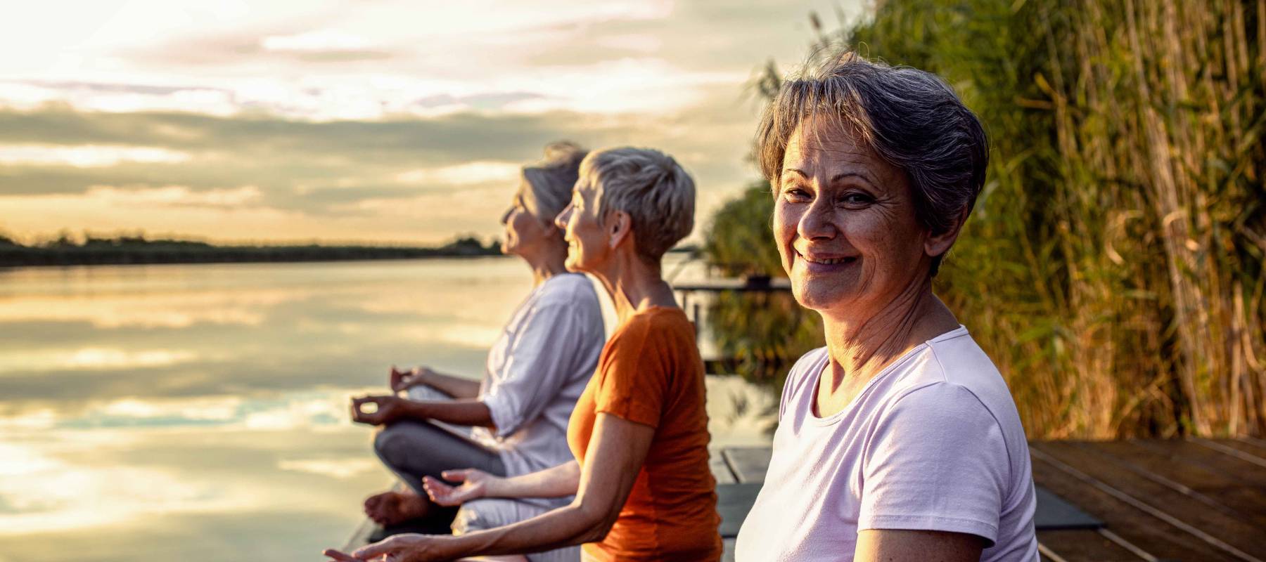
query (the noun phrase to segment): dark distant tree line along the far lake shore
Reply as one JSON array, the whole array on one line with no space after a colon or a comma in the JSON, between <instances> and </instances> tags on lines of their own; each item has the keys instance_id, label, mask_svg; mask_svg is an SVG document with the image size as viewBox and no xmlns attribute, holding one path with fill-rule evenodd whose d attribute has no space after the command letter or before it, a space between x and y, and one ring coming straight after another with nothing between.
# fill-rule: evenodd
<instances>
[{"instance_id":1,"label":"dark distant tree line along the far lake shore","mask_svg":"<svg viewBox=\"0 0 1266 562\"><path fill-rule=\"evenodd\" d=\"M147 239L143 234L82 240L57 239L24 246L0 234L0 267L95 266L130 263L323 262L500 256L500 243L463 235L443 246L216 246L197 240Z\"/></svg>"}]
</instances>

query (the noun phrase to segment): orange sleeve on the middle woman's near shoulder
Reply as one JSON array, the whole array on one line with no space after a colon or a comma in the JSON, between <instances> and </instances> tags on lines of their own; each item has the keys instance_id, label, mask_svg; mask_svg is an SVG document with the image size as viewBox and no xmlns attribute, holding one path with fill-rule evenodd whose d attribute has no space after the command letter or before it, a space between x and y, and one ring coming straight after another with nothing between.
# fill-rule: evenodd
<instances>
[{"instance_id":1,"label":"orange sleeve on the middle woman's near shoulder","mask_svg":"<svg viewBox=\"0 0 1266 562\"><path fill-rule=\"evenodd\" d=\"M629 422L660 427L670 384L667 349L655 349L651 325L624 330L608 343L608 357L599 365L594 411Z\"/></svg>"}]
</instances>

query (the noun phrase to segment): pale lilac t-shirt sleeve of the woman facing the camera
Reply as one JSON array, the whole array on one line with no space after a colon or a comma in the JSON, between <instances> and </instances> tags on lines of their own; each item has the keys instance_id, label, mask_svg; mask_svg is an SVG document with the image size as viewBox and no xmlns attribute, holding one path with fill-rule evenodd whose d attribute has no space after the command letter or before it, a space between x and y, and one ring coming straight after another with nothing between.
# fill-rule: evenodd
<instances>
[{"instance_id":1,"label":"pale lilac t-shirt sleeve of the woman facing the camera","mask_svg":"<svg viewBox=\"0 0 1266 562\"><path fill-rule=\"evenodd\" d=\"M998 540L1010 459L1001 427L963 386L898 399L871 434L857 530L917 529Z\"/></svg>"}]
</instances>

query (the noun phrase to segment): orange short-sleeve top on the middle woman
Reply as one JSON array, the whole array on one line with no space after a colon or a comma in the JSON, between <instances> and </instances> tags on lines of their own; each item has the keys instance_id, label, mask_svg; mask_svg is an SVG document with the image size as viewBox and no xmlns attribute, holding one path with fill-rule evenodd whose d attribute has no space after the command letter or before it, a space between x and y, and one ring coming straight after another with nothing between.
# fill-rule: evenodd
<instances>
[{"instance_id":1,"label":"orange short-sleeve top on the middle woman","mask_svg":"<svg viewBox=\"0 0 1266 562\"><path fill-rule=\"evenodd\" d=\"M567 443L584 467L599 413L649 425L655 437L615 525L585 544L585 554L603 562L720 559L704 397L704 365L681 309L653 306L615 329L576 401Z\"/></svg>"}]
</instances>

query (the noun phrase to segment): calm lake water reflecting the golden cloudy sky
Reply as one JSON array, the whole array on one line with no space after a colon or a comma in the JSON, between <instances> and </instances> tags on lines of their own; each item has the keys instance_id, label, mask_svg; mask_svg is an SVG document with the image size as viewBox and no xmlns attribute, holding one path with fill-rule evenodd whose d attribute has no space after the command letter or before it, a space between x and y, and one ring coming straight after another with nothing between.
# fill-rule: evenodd
<instances>
[{"instance_id":1,"label":"calm lake water reflecting the golden cloudy sky","mask_svg":"<svg viewBox=\"0 0 1266 562\"><path fill-rule=\"evenodd\" d=\"M348 396L392 363L477 378L529 285L514 258L0 270L0 562L322 559L391 480ZM768 392L708 387L714 444L766 440Z\"/></svg>"}]
</instances>

